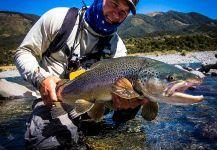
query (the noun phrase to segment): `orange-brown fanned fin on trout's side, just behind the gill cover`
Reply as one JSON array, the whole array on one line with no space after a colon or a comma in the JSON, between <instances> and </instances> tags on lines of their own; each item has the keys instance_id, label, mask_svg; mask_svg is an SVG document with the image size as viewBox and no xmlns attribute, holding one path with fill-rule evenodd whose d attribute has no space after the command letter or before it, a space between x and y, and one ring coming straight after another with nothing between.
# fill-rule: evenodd
<instances>
[{"instance_id":1,"label":"orange-brown fanned fin on trout's side, just behind the gill cover","mask_svg":"<svg viewBox=\"0 0 217 150\"><path fill-rule=\"evenodd\" d=\"M133 89L132 84L126 78L118 79L112 86L112 93L125 99L139 97L139 94Z\"/></svg>"}]
</instances>

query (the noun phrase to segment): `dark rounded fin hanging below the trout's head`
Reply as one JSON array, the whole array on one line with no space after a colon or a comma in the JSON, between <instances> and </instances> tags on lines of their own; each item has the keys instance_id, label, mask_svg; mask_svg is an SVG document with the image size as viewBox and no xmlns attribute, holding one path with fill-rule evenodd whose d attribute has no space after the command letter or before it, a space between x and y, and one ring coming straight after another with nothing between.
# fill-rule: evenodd
<instances>
[{"instance_id":1,"label":"dark rounded fin hanging below the trout's head","mask_svg":"<svg viewBox=\"0 0 217 150\"><path fill-rule=\"evenodd\" d=\"M158 108L158 103L152 101L148 101L146 104L142 105L141 115L143 119L147 121L154 120L157 117Z\"/></svg>"}]
</instances>

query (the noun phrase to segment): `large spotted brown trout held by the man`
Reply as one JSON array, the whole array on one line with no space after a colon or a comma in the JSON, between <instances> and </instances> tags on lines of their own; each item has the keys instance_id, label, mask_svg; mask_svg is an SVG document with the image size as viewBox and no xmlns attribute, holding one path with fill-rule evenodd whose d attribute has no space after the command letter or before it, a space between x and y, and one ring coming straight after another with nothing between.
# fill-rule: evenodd
<instances>
[{"instance_id":1,"label":"large spotted brown trout held by the man","mask_svg":"<svg viewBox=\"0 0 217 150\"><path fill-rule=\"evenodd\" d=\"M96 119L103 114L99 107L111 103L112 93L129 100L146 98L150 103L143 105L142 115L146 120L152 120L157 115L157 102L173 105L201 102L203 96L184 93L187 88L200 83L200 77L173 65L127 56L94 64L74 80L59 84L57 96L74 107L70 112L72 118L88 112Z\"/></svg>"}]
</instances>

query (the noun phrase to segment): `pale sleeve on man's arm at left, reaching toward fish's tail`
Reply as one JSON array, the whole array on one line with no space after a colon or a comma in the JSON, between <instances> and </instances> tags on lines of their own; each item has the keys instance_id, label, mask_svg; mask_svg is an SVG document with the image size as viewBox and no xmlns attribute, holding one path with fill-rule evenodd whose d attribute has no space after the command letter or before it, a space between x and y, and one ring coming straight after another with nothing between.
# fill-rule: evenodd
<instances>
[{"instance_id":1,"label":"pale sleeve on man's arm at left, reaching toward fish's tail","mask_svg":"<svg viewBox=\"0 0 217 150\"><path fill-rule=\"evenodd\" d=\"M14 56L21 76L37 89L42 80L52 75L42 67L45 65L42 65L42 54L61 27L67 9L62 13L60 10L55 8L46 12L30 29Z\"/></svg>"}]
</instances>

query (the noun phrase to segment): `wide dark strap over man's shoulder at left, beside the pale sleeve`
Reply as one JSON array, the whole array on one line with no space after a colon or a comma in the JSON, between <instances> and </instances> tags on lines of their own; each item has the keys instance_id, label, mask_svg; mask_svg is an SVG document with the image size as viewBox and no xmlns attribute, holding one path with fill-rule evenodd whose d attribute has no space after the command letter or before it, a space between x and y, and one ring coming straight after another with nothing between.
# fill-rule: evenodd
<instances>
[{"instance_id":1,"label":"wide dark strap over man's shoulder at left, beside the pale sleeve","mask_svg":"<svg viewBox=\"0 0 217 150\"><path fill-rule=\"evenodd\" d=\"M51 53L58 52L60 49L64 50L64 53L69 56L70 51L66 44L73 27L75 26L76 18L78 16L78 8L72 7L68 10L63 24L58 31L54 40L50 43L49 48L42 54L42 56L50 57Z\"/></svg>"}]
</instances>

